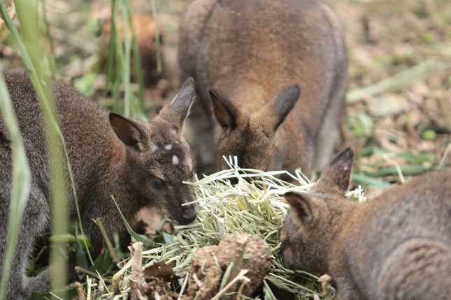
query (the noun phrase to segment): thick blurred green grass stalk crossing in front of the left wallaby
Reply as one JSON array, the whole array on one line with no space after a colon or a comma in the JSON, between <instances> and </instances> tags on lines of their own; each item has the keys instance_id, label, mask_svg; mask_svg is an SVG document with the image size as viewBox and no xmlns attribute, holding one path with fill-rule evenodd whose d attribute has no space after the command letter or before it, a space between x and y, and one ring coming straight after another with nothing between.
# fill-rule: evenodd
<instances>
[{"instance_id":1,"label":"thick blurred green grass stalk crossing in front of the left wallaby","mask_svg":"<svg viewBox=\"0 0 451 300\"><path fill-rule=\"evenodd\" d=\"M48 162L52 186L52 246L50 262L52 264L52 290L57 293L67 282L66 234L68 232L68 211L66 193L66 174L64 170L65 158L64 139L59 129L55 114L55 103L52 99L52 86L47 75L45 64L42 63L43 52L40 47L41 36L38 24L36 1L15 0L17 17L22 29L20 36L17 28L8 17L6 6L0 2L1 13L6 26L13 34L13 38L22 56L24 67L29 72L31 82L36 90L43 111L45 139L47 142ZM11 218L17 216L11 216ZM19 218L20 220L20 218ZM64 297L64 295L62 295Z\"/></svg>"}]
</instances>

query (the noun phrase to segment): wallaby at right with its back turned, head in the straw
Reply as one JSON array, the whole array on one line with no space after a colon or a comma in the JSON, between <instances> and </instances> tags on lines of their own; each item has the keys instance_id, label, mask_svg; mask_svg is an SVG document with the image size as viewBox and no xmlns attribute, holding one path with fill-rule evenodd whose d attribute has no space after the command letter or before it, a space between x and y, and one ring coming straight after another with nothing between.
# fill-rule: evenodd
<instances>
[{"instance_id":1,"label":"wallaby at right with its back turned, head in the straw","mask_svg":"<svg viewBox=\"0 0 451 300\"><path fill-rule=\"evenodd\" d=\"M346 149L292 206L280 232L289 269L328 273L336 299L450 299L451 170L430 172L358 204L345 198Z\"/></svg>"}]
</instances>

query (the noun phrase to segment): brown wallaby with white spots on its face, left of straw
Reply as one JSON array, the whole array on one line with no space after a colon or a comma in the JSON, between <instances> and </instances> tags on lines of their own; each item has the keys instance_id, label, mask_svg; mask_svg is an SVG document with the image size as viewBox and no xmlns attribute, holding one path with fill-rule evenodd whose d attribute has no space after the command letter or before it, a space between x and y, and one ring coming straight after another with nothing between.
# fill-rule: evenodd
<instances>
[{"instance_id":1,"label":"brown wallaby with white spots on its face, left of straw","mask_svg":"<svg viewBox=\"0 0 451 300\"><path fill-rule=\"evenodd\" d=\"M4 75L32 174L7 298L29 299L31 291L48 288L45 273L41 277L27 278L24 271L34 239L49 229L51 183L41 109L34 87L24 70L7 71ZM193 176L189 146L182 134L182 125L194 98L192 79L182 85L171 104L164 107L152 123L131 121L110 113L62 82L53 82L52 86L76 181L83 226L94 253L101 249L102 238L93 218L100 217L110 234L121 233L124 228L112 195L128 220L138 209L152 204L166 209L178 223L194 220L194 207L182 206L193 200L192 188L182 184ZM1 119L0 165L2 265L10 202L11 153L8 132ZM69 207L74 218L73 199Z\"/></svg>"}]
</instances>

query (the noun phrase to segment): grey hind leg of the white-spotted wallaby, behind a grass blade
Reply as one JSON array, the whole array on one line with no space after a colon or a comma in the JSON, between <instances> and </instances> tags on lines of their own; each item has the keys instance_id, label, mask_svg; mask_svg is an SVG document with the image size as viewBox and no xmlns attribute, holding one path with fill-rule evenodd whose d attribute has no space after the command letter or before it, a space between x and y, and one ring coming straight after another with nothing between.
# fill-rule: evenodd
<instances>
[{"instance_id":1,"label":"grey hind leg of the white-spotted wallaby, behind a grass blade","mask_svg":"<svg viewBox=\"0 0 451 300\"><path fill-rule=\"evenodd\" d=\"M10 201L10 183L0 182L0 220L2 229L0 230L0 241L6 241L9 215ZM8 188L8 190L6 190ZM29 285L32 278L25 276L27 268L27 260L32 250L34 240L40 234L47 223L49 208L45 197L41 193L37 193L36 189L31 188L29 200L22 217L22 225L20 226L20 234L15 247L13 264L10 268L8 278L8 288L6 291L6 299L30 299L31 292L48 290L48 280L44 280L45 276L39 276L39 286L36 284ZM0 264L3 266L3 255L6 252L6 242L0 243ZM38 290L34 290L37 288Z\"/></svg>"}]
</instances>

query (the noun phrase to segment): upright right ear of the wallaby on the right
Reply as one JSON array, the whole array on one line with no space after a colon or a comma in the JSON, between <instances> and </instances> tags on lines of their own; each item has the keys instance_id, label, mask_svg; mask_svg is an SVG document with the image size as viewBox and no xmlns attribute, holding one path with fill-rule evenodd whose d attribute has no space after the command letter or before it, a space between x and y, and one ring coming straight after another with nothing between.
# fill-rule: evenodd
<instances>
[{"instance_id":1,"label":"upright right ear of the wallaby on the right","mask_svg":"<svg viewBox=\"0 0 451 300\"><path fill-rule=\"evenodd\" d=\"M354 152L350 148L343 150L324 168L320 180L315 184L315 190L330 190L338 188L343 194L349 188Z\"/></svg>"}]
</instances>

